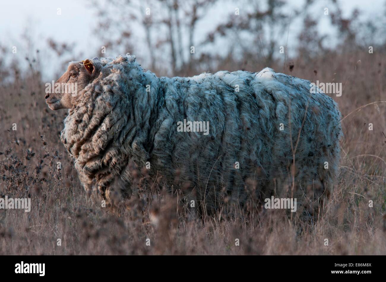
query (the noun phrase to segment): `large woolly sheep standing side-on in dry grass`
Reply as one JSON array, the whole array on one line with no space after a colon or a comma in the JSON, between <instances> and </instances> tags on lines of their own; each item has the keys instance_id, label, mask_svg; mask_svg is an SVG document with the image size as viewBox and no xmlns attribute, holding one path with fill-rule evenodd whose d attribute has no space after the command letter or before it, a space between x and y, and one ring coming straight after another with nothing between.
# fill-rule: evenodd
<instances>
[{"instance_id":1,"label":"large woolly sheep standing side-on in dry grass","mask_svg":"<svg viewBox=\"0 0 386 282\"><path fill-rule=\"evenodd\" d=\"M61 141L85 190L108 205L130 198L144 171L188 187L207 211L275 195L313 212L337 181L341 114L307 80L271 68L157 77L127 54L72 62L57 83L78 85L46 95L52 110L69 109Z\"/></svg>"}]
</instances>

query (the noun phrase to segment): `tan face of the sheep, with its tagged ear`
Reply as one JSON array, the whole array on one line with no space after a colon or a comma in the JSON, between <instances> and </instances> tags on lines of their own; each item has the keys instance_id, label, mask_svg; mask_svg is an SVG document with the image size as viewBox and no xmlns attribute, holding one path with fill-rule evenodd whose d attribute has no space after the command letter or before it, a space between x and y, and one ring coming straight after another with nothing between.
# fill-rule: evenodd
<instances>
[{"instance_id":1,"label":"tan face of the sheep, with its tagged ear","mask_svg":"<svg viewBox=\"0 0 386 282\"><path fill-rule=\"evenodd\" d=\"M97 76L97 69L90 60L71 63L67 71L46 88L46 103L51 110L72 108L80 93ZM53 91L52 91L53 90Z\"/></svg>"}]
</instances>

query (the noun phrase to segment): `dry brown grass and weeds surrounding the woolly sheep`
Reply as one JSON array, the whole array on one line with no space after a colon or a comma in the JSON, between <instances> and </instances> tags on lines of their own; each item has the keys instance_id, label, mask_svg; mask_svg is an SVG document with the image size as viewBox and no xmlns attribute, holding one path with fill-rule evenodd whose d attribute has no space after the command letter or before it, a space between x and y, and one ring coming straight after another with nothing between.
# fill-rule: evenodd
<instances>
[{"instance_id":1,"label":"dry brown grass and weeds surrounding the woolly sheep","mask_svg":"<svg viewBox=\"0 0 386 282\"><path fill-rule=\"evenodd\" d=\"M285 66L284 72L342 82L343 95L334 99L344 116L386 100L384 55L365 50L293 63L293 71ZM261 62L240 65L230 59L219 68L262 67ZM282 64L271 67L283 70ZM66 111L47 108L38 78L35 72L0 87L0 197L30 197L32 202L30 212L0 210L0 255L386 254L386 103L372 103L342 121L339 183L316 221L291 221L283 210L261 206L226 218L220 213L198 218L185 212L179 190L170 195L157 183L148 194L131 199L130 210L112 212L88 199L81 188L59 138ZM369 123L374 130L368 130ZM58 161L61 170L56 169ZM151 205L149 198L154 199Z\"/></svg>"}]
</instances>

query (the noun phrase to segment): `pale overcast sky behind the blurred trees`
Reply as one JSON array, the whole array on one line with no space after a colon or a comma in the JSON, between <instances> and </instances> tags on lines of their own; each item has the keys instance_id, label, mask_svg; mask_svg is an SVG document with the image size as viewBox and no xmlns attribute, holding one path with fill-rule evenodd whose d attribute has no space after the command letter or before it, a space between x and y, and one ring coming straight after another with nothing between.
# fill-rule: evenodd
<instances>
[{"instance_id":1,"label":"pale overcast sky behind the blurred trees","mask_svg":"<svg viewBox=\"0 0 386 282\"><path fill-rule=\"evenodd\" d=\"M149 2L151 3L151 0ZM354 8L358 8L362 12L362 17L365 18L379 16L380 11L384 11L384 2L385 0L340 0L345 15L349 15ZM289 0L288 3L288 13L290 13L291 7L301 7L304 0ZM318 1L317 9L323 9L324 6L328 7L326 3L330 2ZM202 40L206 32L220 23L226 15L234 12L235 7L237 7L237 1L228 0L223 3L219 2L211 8L207 17L200 22L196 29L196 39ZM58 8L61 8L61 15L57 14ZM240 13L242 8L240 7ZM90 2L87 0L0 0L0 13L0 45L9 46L8 50L11 52L12 46L20 46L20 35L27 27L35 44L34 47L43 51L44 48L47 48L47 38L53 38L59 42L76 42L76 52L81 52L86 56L90 50L95 51L100 48L100 42L93 35L95 9L90 7ZM294 31L290 33L292 36L296 36L298 27L299 25L296 23L290 27L290 30ZM328 28L327 20L320 25L322 33L328 33ZM289 42L291 42L291 35ZM135 36L141 40L141 34ZM28 50L24 50L22 47L19 53L25 56Z\"/></svg>"}]
</instances>

